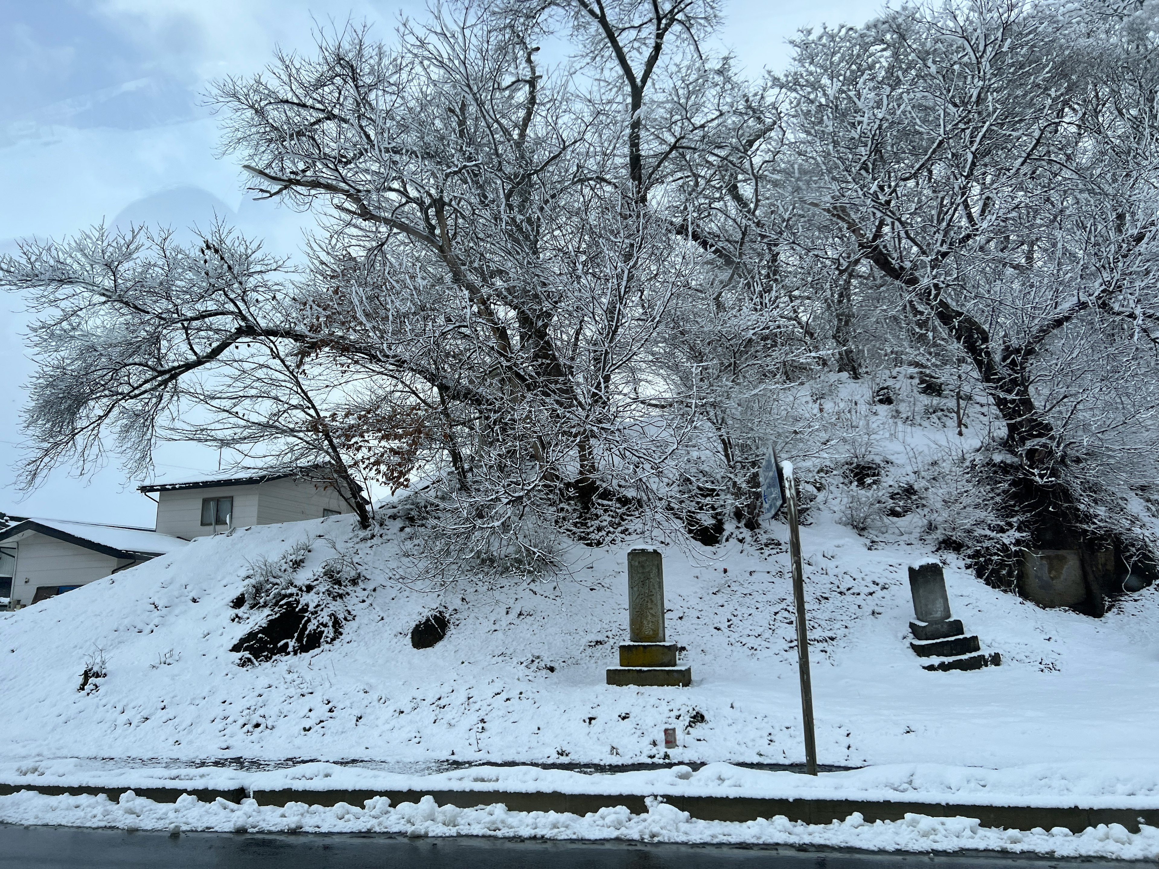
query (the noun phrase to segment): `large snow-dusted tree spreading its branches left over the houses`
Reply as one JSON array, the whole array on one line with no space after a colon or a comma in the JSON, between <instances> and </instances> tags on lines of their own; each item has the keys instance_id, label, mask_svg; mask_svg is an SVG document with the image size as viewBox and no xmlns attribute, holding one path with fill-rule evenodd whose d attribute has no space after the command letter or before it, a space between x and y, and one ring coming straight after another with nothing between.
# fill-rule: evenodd
<instances>
[{"instance_id":1,"label":"large snow-dusted tree spreading its branches left over the houses","mask_svg":"<svg viewBox=\"0 0 1159 869\"><path fill-rule=\"evenodd\" d=\"M561 503L647 506L695 415L654 359L700 253L648 205L665 155L640 107L665 41L706 20L693 6L464 5L391 48L349 28L221 82L253 190L318 214L307 273L224 231L3 260L45 313L25 482L109 434L133 472L158 434L278 463L314 450L351 479L433 476L464 553L532 561L522 530ZM621 27L641 14L648 38ZM553 21L604 41L619 78L585 58L581 92L540 70ZM704 123L664 119L681 126Z\"/></svg>"}]
</instances>

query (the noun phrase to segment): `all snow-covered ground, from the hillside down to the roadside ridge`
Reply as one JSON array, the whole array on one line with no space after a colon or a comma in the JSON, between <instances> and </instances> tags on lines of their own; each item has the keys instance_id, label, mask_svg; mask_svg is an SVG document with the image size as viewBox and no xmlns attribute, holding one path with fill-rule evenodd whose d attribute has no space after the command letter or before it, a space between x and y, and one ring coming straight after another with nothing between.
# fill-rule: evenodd
<instances>
[{"instance_id":1,"label":"all snow-covered ground, from the hillside down to the roadside ridge","mask_svg":"<svg viewBox=\"0 0 1159 869\"><path fill-rule=\"evenodd\" d=\"M202 539L0 614L0 780L1159 806L1159 591L1123 598L1093 620L989 589L950 556L954 615L979 635L984 651L1001 653L1003 665L927 672L907 644L906 565L931 553L904 539L870 542L823 503L802 528L818 754L823 765L870 768L809 779L712 762L803 759L786 534L777 528L763 547L657 539L576 546L555 580L500 589L460 582L445 591L403 582L401 553L416 530L401 518L369 541L350 517ZM277 560L300 543L311 547L305 574L336 552L357 563L364 580L347 600L355 618L331 645L240 666L229 648L256 616L229 604L258 558ZM636 545L665 554L668 633L692 667L690 688L605 684L617 644L627 640L625 554ZM446 637L414 649L411 628L436 611L449 616ZM100 658L107 676L79 691L86 664ZM678 747L664 750L665 726L677 728ZM688 775L452 766L649 761L709 766ZM0 797L0 820L1159 854L1150 827L1071 837L917 816L824 827L724 824L681 819L664 804L639 817L608 809L577 818L430 804L283 810L183 799L121 805L16 794Z\"/></svg>"}]
</instances>

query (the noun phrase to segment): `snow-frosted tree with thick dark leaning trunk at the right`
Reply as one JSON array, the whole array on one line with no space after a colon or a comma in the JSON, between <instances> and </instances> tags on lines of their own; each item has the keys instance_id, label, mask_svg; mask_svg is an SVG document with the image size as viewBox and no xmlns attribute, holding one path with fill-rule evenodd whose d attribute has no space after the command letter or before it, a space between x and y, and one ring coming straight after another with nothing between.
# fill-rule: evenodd
<instances>
[{"instance_id":1,"label":"snow-frosted tree with thick dark leaning trunk at the right","mask_svg":"<svg viewBox=\"0 0 1159 869\"><path fill-rule=\"evenodd\" d=\"M802 37L782 80L807 200L972 363L1027 509L1078 532L1072 460L1154 409L1153 14L905 7Z\"/></svg>"}]
</instances>

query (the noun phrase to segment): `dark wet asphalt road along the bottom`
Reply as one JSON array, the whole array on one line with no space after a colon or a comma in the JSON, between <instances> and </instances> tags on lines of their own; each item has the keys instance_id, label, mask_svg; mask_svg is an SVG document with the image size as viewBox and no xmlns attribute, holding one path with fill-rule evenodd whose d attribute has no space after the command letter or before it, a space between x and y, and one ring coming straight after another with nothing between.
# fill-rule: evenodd
<instances>
[{"instance_id":1,"label":"dark wet asphalt road along the bottom","mask_svg":"<svg viewBox=\"0 0 1159 869\"><path fill-rule=\"evenodd\" d=\"M407 839L388 835L127 833L0 825L2 869L1127 869L1152 863L991 854L868 854L792 847Z\"/></svg>"}]
</instances>

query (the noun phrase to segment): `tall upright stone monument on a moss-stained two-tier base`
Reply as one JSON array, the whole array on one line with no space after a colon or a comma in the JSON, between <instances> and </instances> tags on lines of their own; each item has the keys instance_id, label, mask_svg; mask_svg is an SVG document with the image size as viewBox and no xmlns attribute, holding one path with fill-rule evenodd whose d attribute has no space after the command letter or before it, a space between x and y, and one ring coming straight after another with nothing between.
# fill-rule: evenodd
<instances>
[{"instance_id":1,"label":"tall upright stone monument on a moss-stained two-tier base","mask_svg":"<svg viewBox=\"0 0 1159 869\"><path fill-rule=\"evenodd\" d=\"M628 642L608 685L687 686L692 667L677 666L676 643L664 634L664 563L655 549L628 553Z\"/></svg>"}]
</instances>

